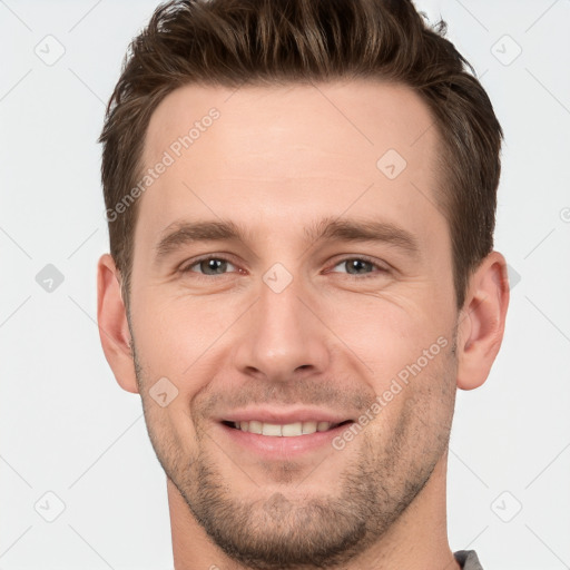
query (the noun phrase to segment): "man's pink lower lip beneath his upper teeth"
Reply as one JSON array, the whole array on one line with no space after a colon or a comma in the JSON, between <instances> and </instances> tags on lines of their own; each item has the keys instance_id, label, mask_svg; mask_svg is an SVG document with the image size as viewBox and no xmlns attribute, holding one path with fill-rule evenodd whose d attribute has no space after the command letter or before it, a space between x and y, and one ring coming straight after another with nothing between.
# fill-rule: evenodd
<instances>
[{"instance_id":1,"label":"man's pink lower lip beneath his upper teeth","mask_svg":"<svg viewBox=\"0 0 570 570\"><path fill-rule=\"evenodd\" d=\"M253 451L254 453L265 456L267 459L287 459L291 456L298 456L303 453L316 451L320 448L333 448L333 440L341 435L345 430L350 429L353 424L344 423L337 425L326 432L315 432L305 435L262 435L258 433L244 432L236 428L230 428L224 423L219 425L227 434L233 443Z\"/></svg>"}]
</instances>

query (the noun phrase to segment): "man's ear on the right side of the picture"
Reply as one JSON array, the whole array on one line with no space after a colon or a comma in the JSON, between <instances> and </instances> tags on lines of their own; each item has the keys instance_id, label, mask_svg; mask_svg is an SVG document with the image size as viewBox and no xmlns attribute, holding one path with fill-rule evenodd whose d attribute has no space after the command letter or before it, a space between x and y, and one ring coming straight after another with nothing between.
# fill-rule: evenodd
<instances>
[{"instance_id":1,"label":"man's ear on the right side of the picture","mask_svg":"<svg viewBox=\"0 0 570 570\"><path fill-rule=\"evenodd\" d=\"M458 387L481 386L501 347L509 306L507 262L491 252L469 281L458 327Z\"/></svg>"}]
</instances>

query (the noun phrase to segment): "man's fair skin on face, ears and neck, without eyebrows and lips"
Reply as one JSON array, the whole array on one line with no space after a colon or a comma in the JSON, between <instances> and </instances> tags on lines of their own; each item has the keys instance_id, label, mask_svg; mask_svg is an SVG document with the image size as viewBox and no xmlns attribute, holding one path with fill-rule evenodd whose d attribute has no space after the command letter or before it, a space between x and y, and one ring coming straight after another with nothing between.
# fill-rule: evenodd
<instances>
[{"instance_id":1,"label":"man's fair skin on face, ears and neck, without eyebrows and lips","mask_svg":"<svg viewBox=\"0 0 570 570\"><path fill-rule=\"evenodd\" d=\"M445 514L455 392L487 380L509 289L492 252L455 306L428 108L406 87L365 80L187 86L155 110L144 164L212 107L219 118L139 198L129 320L112 258L98 265L101 343L118 383L140 394L168 475L176 569L459 568ZM393 180L376 167L391 148L407 163ZM307 242L305 227L325 217L391 223L419 249ZM242 224L247 238L156 261L170 224L213 219ZM205 275L203 255L229 263ZM351 274L342 262L361 256L372 265ZM275 263L292 276L281 293L263 279ZM358 417L441 337L445 347L342 451L259 460L217 422L249 402ZM165 407L149 393L160 377L178 390Z\"/></svg>"}]
</instances>

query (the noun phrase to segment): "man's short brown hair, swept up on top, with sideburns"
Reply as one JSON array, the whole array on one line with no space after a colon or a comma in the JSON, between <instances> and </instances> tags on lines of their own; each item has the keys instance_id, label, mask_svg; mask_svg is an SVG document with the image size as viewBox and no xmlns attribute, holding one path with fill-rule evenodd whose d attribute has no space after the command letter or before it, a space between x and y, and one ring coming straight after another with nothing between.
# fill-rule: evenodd
<instances>
[{"instance_id":1,"label":"man's short brown hair, swept up on top, with sideburns","mask_svg":"<svg viewBox=\"0 0 570 570\"><path fill-rule=\"evenodd\" d=\"M132 40L102 142L106 207L144 170L150 116L178 87L379 78L412 88L442 139L438 200L449 222L456 305L492 250L503 132L470 63L411 0L174 0ZM471 73L466 71L466 68ZM130 291L137 203L109 219L110 253ZM128 306L128 305L127 305Z\"/></svg>"}]
</instances>

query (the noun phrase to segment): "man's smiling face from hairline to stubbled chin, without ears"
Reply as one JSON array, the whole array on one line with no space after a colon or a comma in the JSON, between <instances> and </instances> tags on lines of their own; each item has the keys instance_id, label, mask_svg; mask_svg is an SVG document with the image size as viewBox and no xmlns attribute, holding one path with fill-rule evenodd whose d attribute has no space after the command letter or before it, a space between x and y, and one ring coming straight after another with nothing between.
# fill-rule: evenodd
<instances>
[{"instance_id":1,"label":"man's smiling face from hairline to stubbled chin, without ears","mask_svg":"<svg viewBox=\"0 0 570 570\"><path fill-rule=\"evenodd\" d=\"M411 90L372 81L189 86L153 115L145 167L174 163L134 240L146 422L194 517L253 568L348 560L444 461L458 313L432 124ZM168 237L206 223L243 235Z\"/></svg>"}]
</instances>

